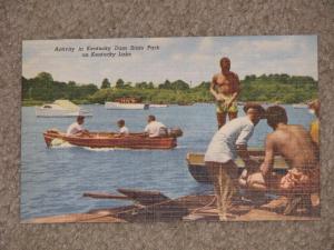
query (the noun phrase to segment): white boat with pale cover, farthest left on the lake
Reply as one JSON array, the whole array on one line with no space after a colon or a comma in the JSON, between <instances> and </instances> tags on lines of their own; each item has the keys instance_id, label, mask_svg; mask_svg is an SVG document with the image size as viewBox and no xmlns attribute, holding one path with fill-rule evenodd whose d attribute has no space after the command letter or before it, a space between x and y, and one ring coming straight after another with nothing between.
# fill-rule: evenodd
<instances>
[{"instance_id":1,"label":"white boat with pale cover, farthest left on the lake","mask_svg":"<svg viewBox=\"0 0 334 250\"><path fill-rule=\"evenodd\" d=\"M88 110L81 109L79 106L70 102L69 100L56 100L52 103L46 103L41 107L36 107L36 117L91 117L92 113Z\"/></svg>"}]
</instances>

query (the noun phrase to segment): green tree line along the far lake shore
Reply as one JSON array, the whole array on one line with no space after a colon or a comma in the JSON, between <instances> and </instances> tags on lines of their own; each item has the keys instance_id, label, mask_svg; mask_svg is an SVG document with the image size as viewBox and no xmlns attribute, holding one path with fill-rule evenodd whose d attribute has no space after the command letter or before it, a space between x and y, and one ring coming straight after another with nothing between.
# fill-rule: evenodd
<instances>
[{"instance_id":1,"label":"green tree line along the far lake shore","mask_svg":"<svg viewBox=\"0 0 334 250\"><path fill-rule=\"evenodd\" d=\"M26 79L22 77L23 104L50 102L57 99L68 99L76 103L104 103L121 97L134 97L141 102L178 103L213 102L209 93L209 81L203 81L190 88L183 80L163 83L126 82L118 79L115 83L106 78L100 84L82 84L75 81L60 82L53 80L48 72ZM299 103L317 97L317 81L312 77L288 74L246 76L240 81L239 101Z\"/></svg>"}]
</instances>

